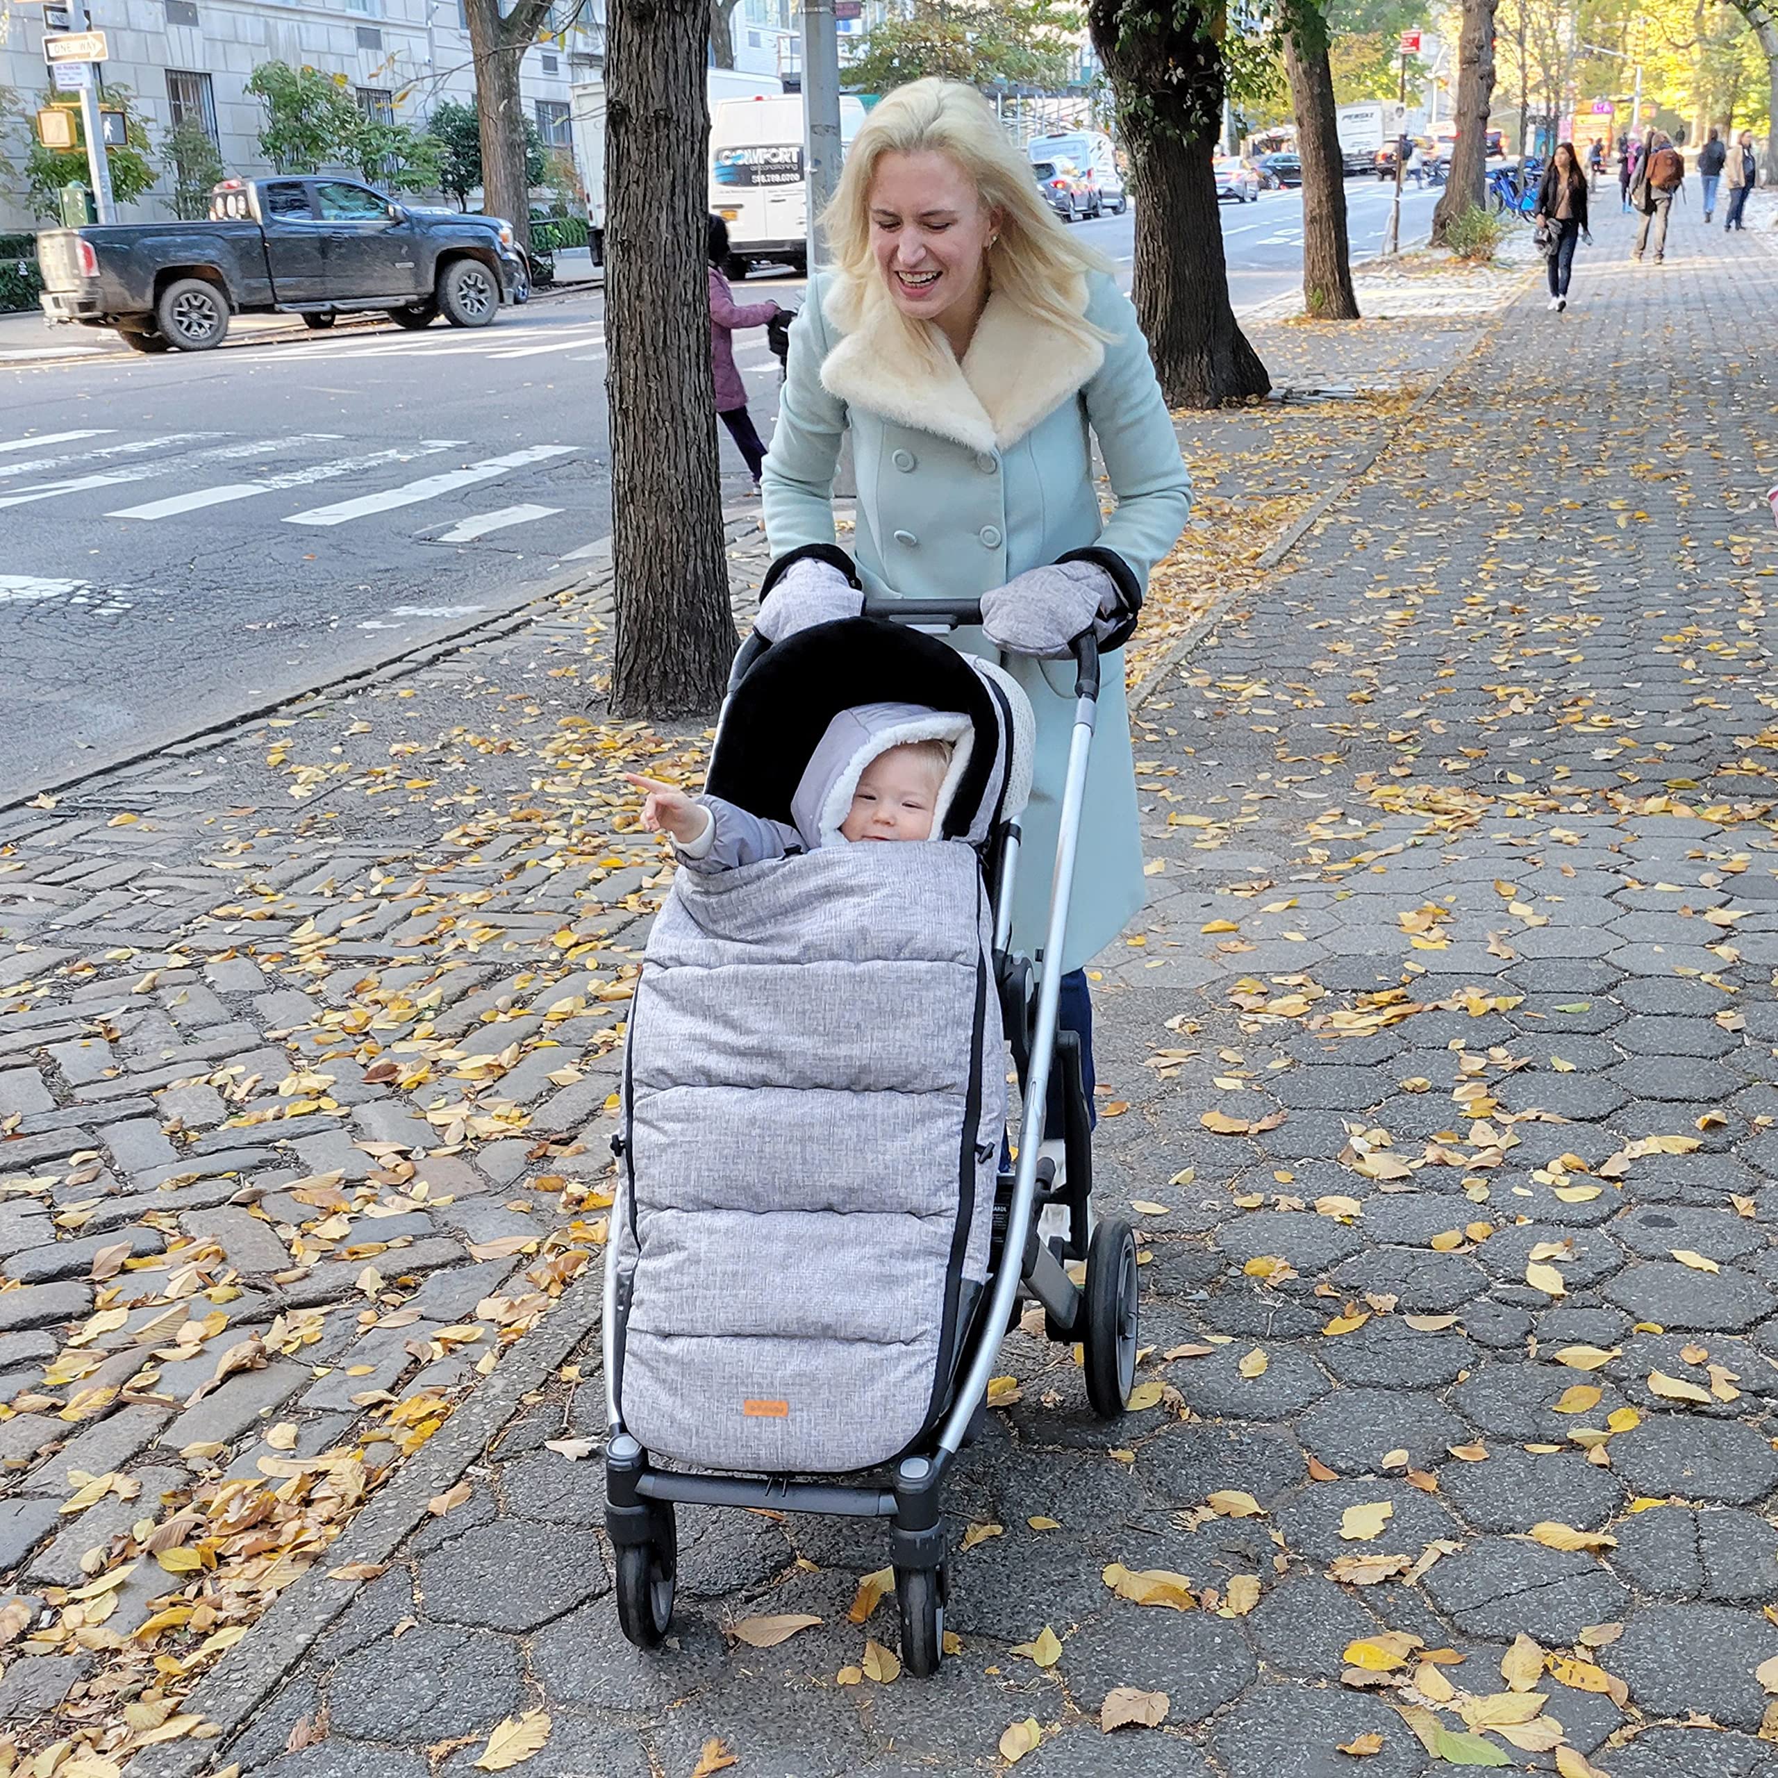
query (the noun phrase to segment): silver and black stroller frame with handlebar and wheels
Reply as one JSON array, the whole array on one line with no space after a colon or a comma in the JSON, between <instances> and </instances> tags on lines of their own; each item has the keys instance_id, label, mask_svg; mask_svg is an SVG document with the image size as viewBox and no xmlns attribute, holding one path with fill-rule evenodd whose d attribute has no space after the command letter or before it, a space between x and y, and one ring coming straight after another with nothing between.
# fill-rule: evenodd
<instances>
[{"instance_id":1,"label":"silver and black stroller frame with handlebar and wheels","mask_svg":"<svg viewBox=\"0 0 1778 1778\"><path fill-rule=\"evenodd\" d=\"M981 622L973 599L871 599L862 615L919 629L957 629ZM729 674L733 693L765 653L757 633L741 644ZM740 1506L848 1518L889 1520L891 1563L901 1620L901 1664L914 1675L935 1673L944 1655L946 1572L944 1479L958 1451L973 1440L987 1410L989 1378L1021 1296L1044 1307L1049 1339L1085 1348L1086 1394L1095 1414L1115 1419L1129 1399L1136 1367L1136 1241L1122 1218L1093 1220L1092 1120L1081 1074L1079 1038L1060 1031L1060 962L1079 845L1086 766L1099 701L1099 647L1088 629L1072 644L1076 661L1074 727L1051 878L1049 926L1037 958L1013 957L1012 891L1019 869L1017 821L990 836L994 884L994 964L1001 1012L1019 1074L1021 1133L1013 1170L997 1173L989 1285L951 1369L949 1406L935 1437L894 1463L889 1486L871 1481L807 1481L793 1476L685 1474L658 1469L622 1424L613 1394L613 1342L622 1307L606 1269L606 1533L617 1554L617 1611L624 1636L640 1648L658 1646L672 1618L677 1572L674 1506ZM727 706L724 706L724 715ZM720 738L720 724L718 724ZM996 855L997 848L997 855ZM1035 974L1035 994L1033 994ZM1045 1108L1054 1069L1061 1070L1061 1154L1045 1141ZM1060 1161L1060 1165L1058 1165ZM1067 1213L1067 1236L1038 1236L1038 1213ZM1005 1223L1003 1223L1005 1214ZM1076 1285L1069 1261L1085 1261Z\"/></svg>"}]
</instances>

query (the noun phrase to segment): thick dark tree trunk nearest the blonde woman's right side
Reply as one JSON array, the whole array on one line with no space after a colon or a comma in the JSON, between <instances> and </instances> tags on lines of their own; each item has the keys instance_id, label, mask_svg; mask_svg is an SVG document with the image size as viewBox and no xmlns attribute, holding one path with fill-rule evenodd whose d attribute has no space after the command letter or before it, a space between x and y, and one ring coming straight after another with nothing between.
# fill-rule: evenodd
<instances>
[{"instance_id":1,"label":"thick dark tree trunk nearest the blonde woman's right side","mask_svg":"<svg viewBox=\"0 0 1778 1778\"><path fill-rule=\"evenodd\" d=\"M1266 366L1229 300L1216 212L1227 68L1218 0L1090 0L1136 181L1134 300L1170 407L1264 395Z\"/></svg>"}]
</instances>

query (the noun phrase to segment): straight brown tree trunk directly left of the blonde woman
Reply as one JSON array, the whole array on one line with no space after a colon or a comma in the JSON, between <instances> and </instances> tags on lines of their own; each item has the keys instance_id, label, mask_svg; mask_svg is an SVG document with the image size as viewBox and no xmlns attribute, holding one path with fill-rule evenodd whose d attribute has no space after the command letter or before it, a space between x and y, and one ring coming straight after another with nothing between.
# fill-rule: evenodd
<instances>
[{"instance_id":1,"label":"straight brown tree trunk directly left of the blonde woman","mask_svg":"<svg viewBox=\"0 0 1778 1778\"><path fill-rule=\"evenodd\" d=\"M610 706L708 715L734 656L704 258L709 0L617 0L608 28Z\"/></svg>"}]
</instances>

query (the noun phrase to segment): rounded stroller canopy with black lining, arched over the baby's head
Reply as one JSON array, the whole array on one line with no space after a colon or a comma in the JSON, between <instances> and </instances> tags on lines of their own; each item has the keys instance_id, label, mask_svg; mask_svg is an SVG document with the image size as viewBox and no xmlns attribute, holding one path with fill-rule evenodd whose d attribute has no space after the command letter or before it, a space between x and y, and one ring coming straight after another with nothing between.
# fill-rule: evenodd
<instances>
[{"instance_id":1,"label":"rounded stroller canopy with black lining, arched over the baby's head","mask_svg":"<svg viewBox=\"0 0 1778 1778\"><path fill-rule=\"evenodd\" d=\"M969 718L973 743L944 813L944 839L981 845L1031 793L1035 720L994 661L877 617L816 624L759 656L729 695L706 789L761 820L791 800L829 724L861 704L923 704Z\"/></svg>"}]
</instances>

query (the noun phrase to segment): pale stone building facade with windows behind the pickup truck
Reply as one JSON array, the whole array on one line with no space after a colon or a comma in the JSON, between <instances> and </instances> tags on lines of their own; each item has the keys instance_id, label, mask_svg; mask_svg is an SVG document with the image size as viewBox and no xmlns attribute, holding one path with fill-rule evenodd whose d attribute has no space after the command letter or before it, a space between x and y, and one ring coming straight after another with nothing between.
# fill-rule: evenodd
<instances>
[{"instance_id":1,"label":"pale stone building facade with windows behind the pickup truck","mask_svg":"<svg viewBox=\"0 0 1778 1778\"><path fill-rule=\"evenodd\" d=\"M393 123L418 126L443 100L475 100L461 0L87 0L87 14L107 37L107 89L128 87L130 110L148 124L151 144L158 148L172 124L196 117L229 174L274 171L260 153L260 101L245 91L261 62L343 76L370 116ZM553 148L569 148L569 84L596 78L605 66L603 20L605 4L594 0L581 23L537 43L521 62L526 110ZM11 89L25 112L0 130L5 158L21 165L30 112L50 84L43 5L0 4L0 89ZM121 206L119 217L171 217L171 190L164 176L153 192ZM23 190L5 188L0 174L0 231L34 220Z\"/></svg>"}]
</instances>

